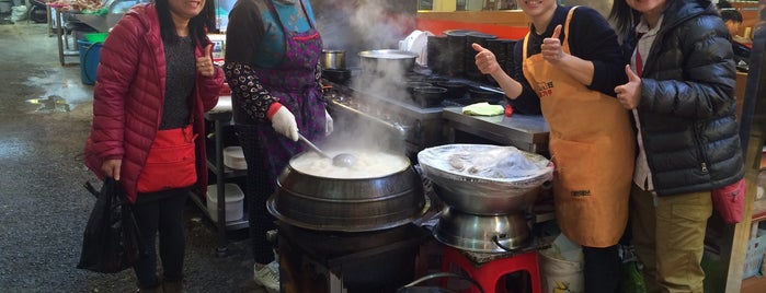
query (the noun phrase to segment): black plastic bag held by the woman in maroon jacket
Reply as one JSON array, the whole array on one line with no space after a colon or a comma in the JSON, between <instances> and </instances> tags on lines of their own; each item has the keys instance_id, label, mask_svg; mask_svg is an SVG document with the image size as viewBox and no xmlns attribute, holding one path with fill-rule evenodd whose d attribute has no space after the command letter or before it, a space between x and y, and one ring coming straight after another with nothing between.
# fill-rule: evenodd
<instances>
[{"instance_id":1,"label":"black plastic bag held by the woman in maroon jacket","mask_svg":"<svg viewBox=\"0 0 766 293\"><path fill-rule=\"evenodd\" d=\"M101 191L95 191L90 183L85 183L85 188L96 200L88 219L77 268L114 273L133 267L146 256L146 250L122 185L106 178Z\"/></svg>"}]
</instances>

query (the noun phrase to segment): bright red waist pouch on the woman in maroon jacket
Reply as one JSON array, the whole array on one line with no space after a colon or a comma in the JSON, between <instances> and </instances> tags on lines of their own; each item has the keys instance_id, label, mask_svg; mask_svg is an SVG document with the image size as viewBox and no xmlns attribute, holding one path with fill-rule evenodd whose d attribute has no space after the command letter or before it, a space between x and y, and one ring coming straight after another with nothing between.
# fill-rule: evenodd
<instances>
[{"instance_id":1,"label":"bright red waist pouch on the woman in maroon jacket","mask_svg":"<svg viewBox=\"0 0 766 293\"><path fill-rule=\"evenodd\" d=\"M138 192L183 188L197 181L191 126L160 130L138 177ZM191 138L190 138L191 137Z\"/></svg>"}]
</instances>

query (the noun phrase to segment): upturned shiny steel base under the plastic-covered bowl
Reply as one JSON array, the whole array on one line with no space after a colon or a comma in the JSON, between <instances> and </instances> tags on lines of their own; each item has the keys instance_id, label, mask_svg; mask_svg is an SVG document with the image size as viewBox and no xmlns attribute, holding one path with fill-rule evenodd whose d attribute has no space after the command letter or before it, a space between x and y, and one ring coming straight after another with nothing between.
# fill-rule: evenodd
<instances>
[{"instance_id":1,"label":"upturned shiny steel base under the plastic-covered bowl","mask_svg":"<svg viewBox=\"0 0 766 293\"><path fill-rule=\"evenodd\" d=\"M523 213L479 215L454 208L442 211L434 238L451 247L477 253L505 253L528 244L529 224Z\"/></svg>"}]
</instances>

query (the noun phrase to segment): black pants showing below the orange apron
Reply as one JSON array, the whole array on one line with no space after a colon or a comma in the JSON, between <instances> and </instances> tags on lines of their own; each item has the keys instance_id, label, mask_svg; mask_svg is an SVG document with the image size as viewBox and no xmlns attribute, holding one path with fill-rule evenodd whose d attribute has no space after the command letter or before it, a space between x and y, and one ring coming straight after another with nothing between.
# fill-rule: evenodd
<instances>
[{"instance_id":1,"label":"black pants showing below the orange apron","mask_svg":"<svg viewBox=\"0 0 766 293\"><path fill-rule=\"evenodd\" d=\"M585 263L585 292L619 292L622 281L619 244L604 248L583 246L583 259Z\"/></svg>"}]
</instances>

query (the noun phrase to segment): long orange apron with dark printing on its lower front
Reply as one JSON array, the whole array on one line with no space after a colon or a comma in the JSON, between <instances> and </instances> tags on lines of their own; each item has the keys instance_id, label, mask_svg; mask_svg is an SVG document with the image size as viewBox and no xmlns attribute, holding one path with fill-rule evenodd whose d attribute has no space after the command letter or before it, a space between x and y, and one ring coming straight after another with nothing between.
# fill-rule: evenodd
<instances>
[{"instance_id":1,"label":"long orange apron with dark printing on its lower front","mask_svg":"<svg viewBox=\"0 0 766 293\"><path fill-rule=\"evenodd\" d=\"M569 54L569 23L561 46ZM556 164L553 199L559 227L573 242L588 247L617 244L628 222L628 197L633 174L636 134L628 112L616 98L592 91L542 54L527 56L524 77L540 97L550 127L548 149Z\"/></svg>"}]
</instances>

